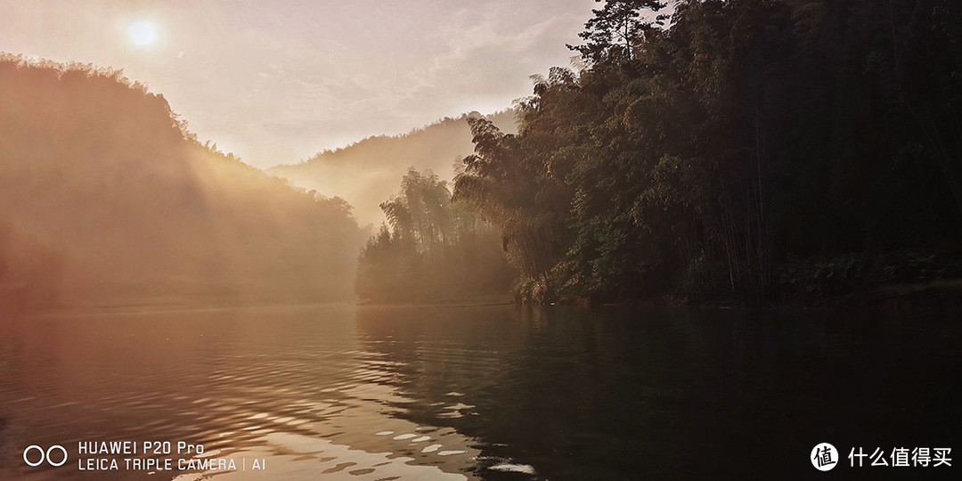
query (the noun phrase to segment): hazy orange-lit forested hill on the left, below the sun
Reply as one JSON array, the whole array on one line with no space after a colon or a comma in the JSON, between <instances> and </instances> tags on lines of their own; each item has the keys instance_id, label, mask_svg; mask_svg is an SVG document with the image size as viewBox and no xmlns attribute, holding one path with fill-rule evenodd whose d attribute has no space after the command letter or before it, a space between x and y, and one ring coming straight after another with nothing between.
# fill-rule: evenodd
<instances>
[{"instance_id":1,"label":"hazy orange-lit forested hill on the left, below the sun","mask_svg":"<svg viewBox=\"0 0 962 481\"><path fill-rule=\"evenodd\" d=\"M350 206L199 143L113 70L0 57L0 311L350 298Z\"/></svg>"}]
</instances>

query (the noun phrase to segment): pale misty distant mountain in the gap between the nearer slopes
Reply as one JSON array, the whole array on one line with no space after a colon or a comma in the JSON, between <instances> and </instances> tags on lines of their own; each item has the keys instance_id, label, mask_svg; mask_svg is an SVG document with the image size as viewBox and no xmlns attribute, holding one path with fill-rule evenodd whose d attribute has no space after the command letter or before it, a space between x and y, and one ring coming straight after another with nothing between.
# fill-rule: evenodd
<instances>
[{"instance_id":1,"label":"pale misty distant mountain in the gap between the nearer slopes","mask_svg":"<svg viewBox=\"0 0 962 481\"><path fill-rule=\"evenodd\" d=\"M379 224L378 207L397 190L409 167L431 169L443 180L454 176L453 165L474 151L468 116L445 117L401 136L363 139L337 150L325 150L296 165L277 165L267 171L291 184L325 195L337 195L354 206L361 224ZM515 112L484 115L504 132L517 132Z\"/></svg>"}]
</instances>

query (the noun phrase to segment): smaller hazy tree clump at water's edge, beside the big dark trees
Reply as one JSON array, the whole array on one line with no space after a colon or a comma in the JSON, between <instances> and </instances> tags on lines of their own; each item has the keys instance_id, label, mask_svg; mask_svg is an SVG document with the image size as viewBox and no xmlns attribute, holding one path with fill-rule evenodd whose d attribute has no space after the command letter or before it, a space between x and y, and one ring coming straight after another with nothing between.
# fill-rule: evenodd
<instances>
[{"instance_id":1,"label":"smaller hazy tree clump at water's edge, beside the big dark trees","mask_svg":"<svg viewBox=\"0 0 962 481\"><path fill-rule=\"evenodd\" d=\"M464 300L505 294L516 275L494 228L447 183L414 167L381 203L387 217L358 261L357 293L376 302Z\"/></svg>"}]
</instances>

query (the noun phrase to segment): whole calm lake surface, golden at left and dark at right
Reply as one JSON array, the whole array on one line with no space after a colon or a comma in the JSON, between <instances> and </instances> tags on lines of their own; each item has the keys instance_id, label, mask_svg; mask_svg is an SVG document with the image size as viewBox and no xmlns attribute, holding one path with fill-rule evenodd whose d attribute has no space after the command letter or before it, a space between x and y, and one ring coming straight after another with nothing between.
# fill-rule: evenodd
<instances>
[{"instance_id":1,"label":"whole calm lake surface, golden at left and dark at right","mask_svg":"<svg viewBox=\"0 0 962 481\"><path fill-rule=\"evenodd\" d=\"M817 443L957 442L958 348L955 321L864 314L323 306L4 318L0 478L809 475ZM266 469L105 476L78 470L81 441L201 443L198 459ZM30 444L63 444L71 461L29 468Z\"/></svg>"}]
</instances>

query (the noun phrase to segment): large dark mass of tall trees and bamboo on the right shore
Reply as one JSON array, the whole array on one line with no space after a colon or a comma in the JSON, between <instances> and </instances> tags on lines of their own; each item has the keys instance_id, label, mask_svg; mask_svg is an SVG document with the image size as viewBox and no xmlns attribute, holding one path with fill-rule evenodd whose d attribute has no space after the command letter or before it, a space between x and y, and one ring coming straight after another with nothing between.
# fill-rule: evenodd
<instances>
[{"instance_id":1,"label":"large dark mass of tall trees and bamboo on the right shore","mask_svg":"<svg viewBox=\"0 0 962 481\"><path fill-rule=\"evenodd\" d=\"M747 301L959 274L962 4L606 1L455 183L520 300ZM952 264L954 263L954 264Z\"/></svg>"}]
</instances>

